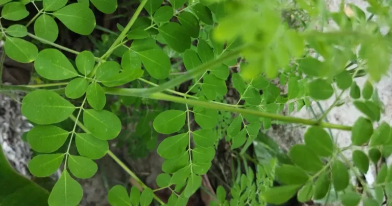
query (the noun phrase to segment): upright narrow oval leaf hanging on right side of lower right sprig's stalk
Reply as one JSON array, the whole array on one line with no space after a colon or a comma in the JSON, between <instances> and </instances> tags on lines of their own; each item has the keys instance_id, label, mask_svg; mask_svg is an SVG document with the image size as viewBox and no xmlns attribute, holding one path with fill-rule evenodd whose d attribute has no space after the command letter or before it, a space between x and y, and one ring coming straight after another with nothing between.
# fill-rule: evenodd
<instances>
[{"instance_id":1,"label":"upright narrow oval leaf hanging on right side of lower right sprig's stalk","mask_svg":"<svg viewBox=\"0 0 392 206\"><path fill-rule=\"evenodd\" d=\"M344 190L349 186L350 175L347 166L340 161L332 165L332 183L336 191Z\"/></svg>"}]
</instances>

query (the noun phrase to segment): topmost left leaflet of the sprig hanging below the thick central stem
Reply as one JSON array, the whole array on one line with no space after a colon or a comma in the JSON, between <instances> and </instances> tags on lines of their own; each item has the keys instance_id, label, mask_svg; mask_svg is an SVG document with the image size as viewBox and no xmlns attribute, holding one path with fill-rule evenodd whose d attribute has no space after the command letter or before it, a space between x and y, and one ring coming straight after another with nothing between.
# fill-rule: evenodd
<instances>
[{"instance_id":1,"label":"topmost left leaflet of the sprig hanging below the thick central stem","mask_svg":"<svg viewBox=\"0 0 392 206\"><path fill-rule=\"evenodd\" d=\"M154 119L153 127L159 133L171 134L184 126L185 117L185 111L167 110Z\"/></svg>"}]
</instances>

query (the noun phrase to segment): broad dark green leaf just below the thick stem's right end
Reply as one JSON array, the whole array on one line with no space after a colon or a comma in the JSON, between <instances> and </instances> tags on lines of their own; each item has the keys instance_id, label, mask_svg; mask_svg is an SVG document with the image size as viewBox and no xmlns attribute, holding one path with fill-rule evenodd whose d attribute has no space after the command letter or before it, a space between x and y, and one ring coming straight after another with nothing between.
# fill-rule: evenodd
<instances>
[{"instance_id":1,"label":"broad dark green leaf just below the thick stem's right end","mask_svg":"<svg viewBox=\"0 0 392 206\"><path fill-rule=\"evenodd\" d=\"M333 153L333 142L331 136L322 127L309 127L304 134L305 144L314 153L320 156L331 156Z\"/></svg>"}]
</instances>

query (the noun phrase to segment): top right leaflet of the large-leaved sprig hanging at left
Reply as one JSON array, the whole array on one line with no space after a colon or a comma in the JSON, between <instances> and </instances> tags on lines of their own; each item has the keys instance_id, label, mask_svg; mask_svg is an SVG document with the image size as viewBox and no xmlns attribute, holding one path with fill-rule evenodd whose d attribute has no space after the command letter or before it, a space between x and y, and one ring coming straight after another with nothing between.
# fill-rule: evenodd
<instances>
[{"instance_id":1,"label":"top right leaflet of the large-leaved sprig hanging at left","mask_svg":"<svg viewBox=\"0 0 392 206\"><path fill-rule=\"evenodd\" d=\"M118 117L106 110L85 109L83 123L96 138L101 140L114 139L121 130Z\"/></svg>"}]
</instances>

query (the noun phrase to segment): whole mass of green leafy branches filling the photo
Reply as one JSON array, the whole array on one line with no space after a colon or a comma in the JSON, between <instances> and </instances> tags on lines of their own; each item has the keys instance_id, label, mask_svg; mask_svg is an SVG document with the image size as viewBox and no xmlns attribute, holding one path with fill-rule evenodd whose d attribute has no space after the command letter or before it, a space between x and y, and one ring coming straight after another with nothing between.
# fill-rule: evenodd
<instances>
[{"instance_id":1,"label":"whole mass of green leafy branches filling the photo","mask_svg":"<svg viewBox=\"0 0 392 206\"><path fill-rule=\"evenodd\" d=\"M38 153L29 163L30 172L45 177L63 165L47 203L79 204L83 190L74 177L92 177L97 171L93 159L108 154L144 188L140 193L134 187L128 193L124 187L114 186L108 194L112 205L149 205L153 198L163 204L108 146L109 140L122 136L120 144L142 145L135 153L152 150L160 133L167 138L157 149L165 159L157 185L172 191L168 205L185 205L201 187L202 175L211 168L220 140L225 137L230 150L243 156L249 147L256 146L261 131L282 122L310 126L305 143L292 146L285 156L263 142L272 160L256 161L256 169L244 167L246 174L233 182L230 196L219 186L211 204L280 204L296 194L301 202L323 198L327 202L333 191L336 201L344 205L360 201L381 205L384 196L390 201L391 168L383 165L372 186L361 177L369 169L369 159L377 164L381 156L392 153L390 125L381 122L373 128L383 111L374 85L390 65L390 34L382 33L381 28L390 27L391 5L367 2L368 18L351 4L329 12L322 0L142 0L128 24L117 25L120 32L110 31L99 42L108 47L101 57L96 57L96 51L77 52L54 43L59 33L57 22L71 32L89 35L97 28L91 9L113 13L116 0L91 0L92 5L43 0L41 10L34 1L27 2L38 10L27 25L17 24L29 15L24 4L1 3L2 20L15 21L8 28L2 26L7 56L22 63L34 62L40 77L56 81L33 88L66 85L60 89L21 87L33 90L22 102L23 115L36 124L27 134ZM300 15L281 15L287 8L300 11ZM298 27L292 23L294 19L287 20L291 17L308 22ZM330 19L336 24L334 31L309 26L323 25ZM33 23L34 34L28 32ZM38 52L29 39L51 47ZM75 56L68 58L63 52ZM117 57L121 61L117 62ZM174 76L182 63L186 72ZM230 70L232 67L239 72ZM355 78L363 74L367 81L359 88ZM191 85L181 92L180 85L187 80ZM239 96L235 104L225 100L227 85ZM2 85L0 91L21 88ZM353 126L323 122L333 107L341 105L345 91L356 99L353 104L363 117ZM311 106L311 101L327 100L334 94L334 103L320 119L289 116L295 109ZM118 101L111 104L108 95L118 96ZM158 100L179 104L162 106ZM138 118L124 115L120 105L141 110ZM280 114L285 108L287 116ZM233 118L231 112L235 113ZM71 129L57 125L68 118L75 122ZM135 121L132 139L120 134L122 125ZM351 131L352 145L339 148L326 128ZM70 150L74 139L77 151ZM355 150L351 164L342 152L355 146L367 146L369 152ZM363 194L349 181L350 173L361 182ZM274 187L275 178L281 186Z\"/></svg>"}]
</instances>

